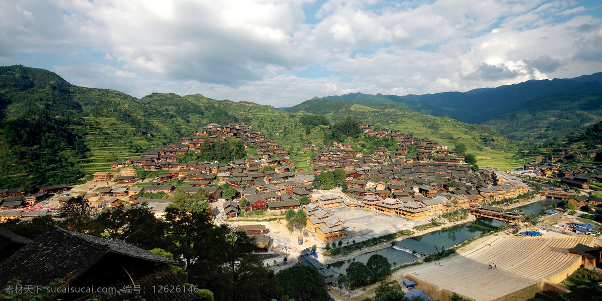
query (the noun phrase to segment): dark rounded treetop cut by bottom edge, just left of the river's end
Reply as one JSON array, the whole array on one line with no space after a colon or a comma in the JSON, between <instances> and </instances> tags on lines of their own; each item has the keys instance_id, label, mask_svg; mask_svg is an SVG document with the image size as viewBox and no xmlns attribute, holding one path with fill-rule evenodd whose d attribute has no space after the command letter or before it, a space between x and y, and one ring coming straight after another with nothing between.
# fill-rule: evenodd
<instances>
[{"instance_id":1,"label":"dark rounded treetop cut by bottom edge, just left of the river's end","mask_svg":"<svg viewBox=\"0 0 602 301\"><path fill-rule=\"evenodd\" d=\"M314 268L295 265L276 274L282 294L296 301L330 300L324 278Z\"/></svg>"}]
</instances>

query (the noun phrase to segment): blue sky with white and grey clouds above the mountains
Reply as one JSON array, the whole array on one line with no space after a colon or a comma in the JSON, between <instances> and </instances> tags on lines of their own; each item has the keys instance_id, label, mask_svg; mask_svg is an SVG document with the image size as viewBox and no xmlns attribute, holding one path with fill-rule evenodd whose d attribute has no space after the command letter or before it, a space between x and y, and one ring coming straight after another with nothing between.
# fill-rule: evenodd
<instances>
[{"instance_id":1,"label":"blue sky with white and grey clouds above the mountains","mask_svg":"<svg viewBox=\"0 0 602 301\"><path fill-rule=\"evenodd\" d=\"M0 64L86 87L288 107L602 71L602 4L515 0L6 0Z\"/></svg>"}]
</instances>

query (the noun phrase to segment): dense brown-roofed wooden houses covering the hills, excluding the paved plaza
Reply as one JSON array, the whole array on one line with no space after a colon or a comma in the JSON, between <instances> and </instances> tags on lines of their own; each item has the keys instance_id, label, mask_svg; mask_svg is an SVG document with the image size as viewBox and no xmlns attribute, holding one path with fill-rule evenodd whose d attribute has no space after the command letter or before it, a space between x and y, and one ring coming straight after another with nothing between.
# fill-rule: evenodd
<instances>
[{"instance_id":1,"label":"dense brown-roofed wooden houses covering the hills, excluding the paved plaza","mask_svg":"<svg viewBox=\"0 0 602 301\"><path fill-rule=\"evenodd\" d=\"M88 191L85 198L91 206L98 209L115 206L117 203L147 202L151 210L161 216L162 209L170 202L170 196L176 189L180 189L188 194L206 191L209 202L220 200L223 203L215 208L215 213L227 217L262 210L276 214L302 206L311 216L317 209L347 206L415 220L471 205L515 198L529 191L521 178L506 172L481 169L474 173L471 166L464 164L464 157L437 141L363 123L359 127L366 135L398 141L396 151L389 152L385 147L379 147L371 154L364 154L352 149L349 143L335 141L330 147L319 147L317 155L309 162L312 170L296 170L296 163L290 160L290 153L261 132L252 131L244 123L229 123L225 126L211 123L197 129L190 137L182 137L181 141L149 149L143 157L113 162L112 172L97 172L93 175L94 179L89 183L102 188ZM203 143L210 144L218 140L240 141L246 149L253 149L256 155L246 155L229 163L184 163L179 160L187 152L199 152ZM414 146L418 154L407 155L408 146ZM311 144L305 147L318 148ZM157 172L157 176L154 179L137 179L132 167ZM598 168L583 166L582 169L568 172L557 166L546 166L540 167L538 172L547 176L547 171L551 170L565 176L565 181L582 179L586 183L600 179L599 175L588 173ZM314 193L315 185L312 184L315 176L336 169L344 170L345 179L341 187L345 194ZM532 169L532 165L526 164L525 170ZM174 180L184 181L174 183ZM107 188L103 187L104 184L108 185ZM236 193L224 203L222 192L225 188L234 188ZM63 193L69 189L64 184L40 187L39 191L33 193L19 188L2 190L0 219L55 214L54 209L57 209L58 203L54 207L38 204L54 193ZM164 198L157 199L152 195L143 197L144 194L158 193L163 193ZM69 196L67 194L62 199ZM243 199L246 202L242 202ZM336 239L336 235L319 236L324 238L322 241Z\"/></svg>"}]
</instances>

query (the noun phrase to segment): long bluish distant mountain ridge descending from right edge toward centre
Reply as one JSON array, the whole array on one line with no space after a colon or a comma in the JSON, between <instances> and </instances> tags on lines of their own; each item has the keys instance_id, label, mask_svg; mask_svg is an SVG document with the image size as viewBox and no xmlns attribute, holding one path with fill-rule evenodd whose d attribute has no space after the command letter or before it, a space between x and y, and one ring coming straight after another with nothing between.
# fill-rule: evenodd
<instances>
[{"instance_id":1,"label":"long bluish distant mountain ridge descending from right edge toward centre","mask_svg":"<svg viewBox=\"0 0 602 301\"><path fill-rule=\"evenodd\" d=\"M496 88L478 88L468 92L443 92L426 95L367 95L349 93L341 96L313 98L285 110L290 112L306 111L313 114L327 114L328 111L349 108L353 104L390 106L394 104L431 116L447 116L467 123L483 124L499 131L509 138L522 141L541 141L551 137L566 137L583 131L586 126L598 122L600 113L597 107L602 94L588 82L601 83L602 72L582 75L571 79L542 79L503 85ZM588 88L593 90L587 92ZM557 93L565 93L562 101ZM587 95L583 105L582 98ZM323 100L333 101L326 105ZM321 100L321 101L320 101ZM393 102L393 103L392 103ZM546 105L547 102L553 103ZM537 116L526 114L529 110L538 110ZM562 108L561 111L559 109ZM589 112L586 112L588 111ZM558 118L559 114L564 116ZM529 123L529 120L533 122ZM546 120L556 120L558 125ZM569 121L570 120L570 121ZM520 127L518 125L528 125Z\"/></svg>"}]
</instances>

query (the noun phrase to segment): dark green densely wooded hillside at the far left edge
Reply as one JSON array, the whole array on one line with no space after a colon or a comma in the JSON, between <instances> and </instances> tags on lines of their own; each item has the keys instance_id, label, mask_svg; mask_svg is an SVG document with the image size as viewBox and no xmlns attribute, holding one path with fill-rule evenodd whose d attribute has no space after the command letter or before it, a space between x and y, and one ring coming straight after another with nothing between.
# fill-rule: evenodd
<instances>
[{"instance_id":1,"label":"dark green densely wooded hillside at the far left edge","mask_svg":"<svg viewBox=\"0 0 602 301\"><path fill-rule=\"evenodd\" d=\"M60 76L23 66L0 67L0 186L75 182L85 156L73 86Z\"/></svg>"}]
</instances>

